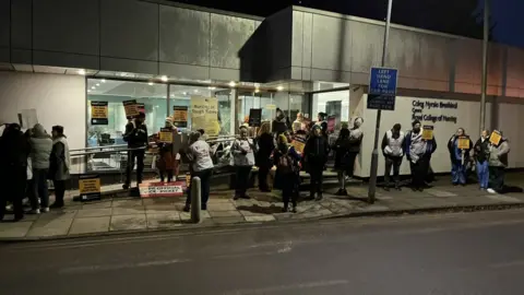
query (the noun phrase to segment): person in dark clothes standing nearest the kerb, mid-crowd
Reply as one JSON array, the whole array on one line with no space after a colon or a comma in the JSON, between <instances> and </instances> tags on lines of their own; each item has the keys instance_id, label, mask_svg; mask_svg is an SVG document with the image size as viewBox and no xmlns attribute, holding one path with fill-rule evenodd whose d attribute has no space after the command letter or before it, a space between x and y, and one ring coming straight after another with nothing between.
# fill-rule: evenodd
<instances>
[{"instance_id":1,"label":"person in dark clothes standing nearest the kerb, mid-crowd","mask_svg":"<svg viewBox=\"0 0 524 295\"><path fill-rule=\"evenodd\" d=\"M273 163L276 166L275 188L282 190L283 212L289 211L289 200L293 205L291 212L297 212L298 194L295 192L298 186L299 161L300 156L293 146L289 146L286 135L278 135L276 150L273 152Z\"/></svg>"}]
</instances>

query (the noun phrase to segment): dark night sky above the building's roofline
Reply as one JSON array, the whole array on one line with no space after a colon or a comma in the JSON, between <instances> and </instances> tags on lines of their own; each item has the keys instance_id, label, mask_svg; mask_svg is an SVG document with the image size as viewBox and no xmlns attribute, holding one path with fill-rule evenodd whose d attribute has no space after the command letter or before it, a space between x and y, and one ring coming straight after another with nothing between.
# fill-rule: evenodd
<instances>
[{"instance_id":1,"label":"dark night sky above the building's roofline","mask_svg":"<svg viewBox=\"0 0 524 295\"><path fill-rule=\"evenodd\" d=\"M434 28L446 22L446 11L456 8L455 1L465 0L393 0L393 7L404 4L410 9L396 10L393 15L394 22L414 22L420 27ZM409 1L413 1L408 4ZM478 0L478 8L484 5L484 0ZM512 46L524 48L524 0L490 0L492 21L497 23L493 30L495 40ZM255 1L255 0L178 0L195 5L222 9L227 11L243 12L247 14L267 16L288 5L305 5L344 14L357 15L369 19L385 17L386 0L278 0ZM441 8L439 13L442 17L434 15L434 5ZM430 8L433 5L433 8ZM395 11L395 10L394 10ZM418 13L417 13L418 12ZM474 11L472 11L473 13ZM400 14L400 15L398 15ZM421 15L431 15L426 17ZM426 20L427 19L427 20ZM481 24L479 24L481 25Z\"/></svg>"}]
</instances>

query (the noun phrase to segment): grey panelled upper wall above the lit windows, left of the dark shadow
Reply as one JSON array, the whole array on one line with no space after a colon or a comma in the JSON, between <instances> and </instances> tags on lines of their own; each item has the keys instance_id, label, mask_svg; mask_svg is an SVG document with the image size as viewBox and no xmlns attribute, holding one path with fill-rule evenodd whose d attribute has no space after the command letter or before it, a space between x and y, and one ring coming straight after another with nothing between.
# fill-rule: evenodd
<instances>
[{"instance_id":1,"label":"grey panelled upper wall above the lit windows, left of the dark shadow","mask_svg":"<svg viewBox=\"0 0 524 295\"><path fill-rule=\"evenodd\" d=\"M0 63L238 81L261 22L162 1L5 0Z\"/></svg>"}]
</instances>

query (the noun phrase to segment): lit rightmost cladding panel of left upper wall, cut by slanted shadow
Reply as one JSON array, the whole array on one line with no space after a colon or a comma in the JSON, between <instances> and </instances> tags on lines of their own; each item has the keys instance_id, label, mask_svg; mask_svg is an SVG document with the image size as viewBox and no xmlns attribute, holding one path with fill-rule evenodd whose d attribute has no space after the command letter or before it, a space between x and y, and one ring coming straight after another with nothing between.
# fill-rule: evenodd
<instances>
[{"instance_id":1,"label":"lit rightmost cladding panel of left upper wall, cut by slanted shadow","mask_svg":"<svg viewBox=\"0 0 524 295\"><path fill-rule=\"evenodd\" d=\"M253 20L211 14L211 67L240 69L239 51L254 32Z\"/></svg>"}]
</instances>

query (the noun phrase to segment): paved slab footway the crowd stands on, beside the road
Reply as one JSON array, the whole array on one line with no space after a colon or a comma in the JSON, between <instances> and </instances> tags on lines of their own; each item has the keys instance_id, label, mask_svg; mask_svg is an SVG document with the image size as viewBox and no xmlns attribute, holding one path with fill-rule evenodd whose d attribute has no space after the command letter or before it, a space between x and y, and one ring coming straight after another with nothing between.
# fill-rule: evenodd
<instances>
[{"instance_id":1,"label":"paved slab footway the crowd stands on, beside the road","mask_svg":"<svg viewBox=\"0 0 524 295\"><path fill-rule=\"evenodd\" d=\"M39 215L26 215L21 222L0 223L0 240L49 239L85 235L122 234L195 227L231 226L240 224L285 223L307 220L362 215L418 213L425 211L461 211L524 206L524 193L489 194L476 185L454 187L446 185L448 177L424 192L384 191L378 189L377 201L366 202L368 187L348 187L347 197L335 196L327 189L322 201L300 201L297 213L282 213L278 191L270 193L251 189L251 200L231 199L233 191L214 188L202 222L192 224L190 214L182 212L184 198L129 198L114 197L81 203L73 201L78 191L69 191L66 208ZM513 186L524 185L522 174L508 177ZM105 187L104 190L118 187ZM306 197L307 192L302 192ZM52 199L52 197L51 197ZM7 219L12 217L8 215Z\"/></svg>"}]
</instances>

